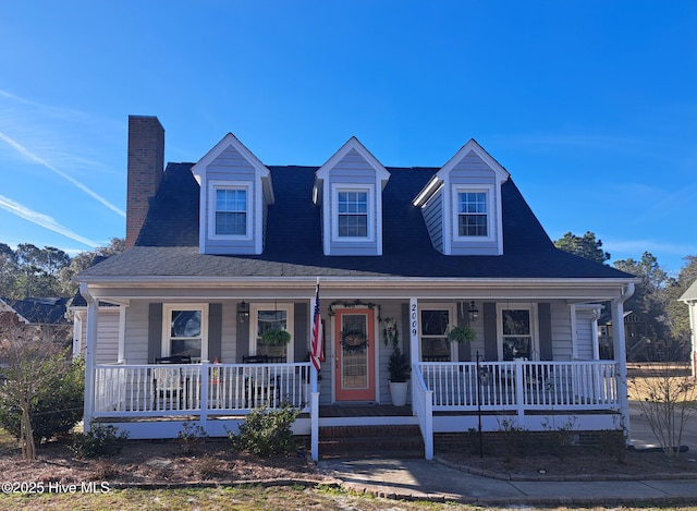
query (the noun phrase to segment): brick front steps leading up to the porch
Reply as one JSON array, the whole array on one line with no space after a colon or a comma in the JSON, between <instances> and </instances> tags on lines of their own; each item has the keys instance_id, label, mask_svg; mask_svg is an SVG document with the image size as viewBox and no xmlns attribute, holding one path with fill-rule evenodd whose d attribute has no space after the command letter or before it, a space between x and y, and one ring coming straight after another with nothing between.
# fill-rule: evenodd
<instances>
[{"instance_id":1,"label":"brick front steps leading up to the porch","mask_svg":"<svg viewBox=\"0 0 697 511\"><path fill-rule=\"evenodd\" d=\"M319 455L330 458L424 458L418 426L328 426L319 428Z\"/></svg>"}]
</instances>

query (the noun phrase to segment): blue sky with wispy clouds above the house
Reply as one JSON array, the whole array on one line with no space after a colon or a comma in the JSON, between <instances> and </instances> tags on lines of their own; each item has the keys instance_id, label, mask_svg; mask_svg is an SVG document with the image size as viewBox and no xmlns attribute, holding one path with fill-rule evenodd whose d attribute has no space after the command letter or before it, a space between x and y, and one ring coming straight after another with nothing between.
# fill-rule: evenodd
<instances>
[{"instance_id":1,"label":"blue sky with wispy clouds above the house","mask_svg":"<svg viewBox=\"0 0 697 511\"><path fill-rule=\"evenodd\" d=\"M476 138L552 240L697 255L697 2L0 0L0 242L125 232L129 114L166 160L234 133L267 165L351 136L384 166Z\"/></svg>"}]
</instances>

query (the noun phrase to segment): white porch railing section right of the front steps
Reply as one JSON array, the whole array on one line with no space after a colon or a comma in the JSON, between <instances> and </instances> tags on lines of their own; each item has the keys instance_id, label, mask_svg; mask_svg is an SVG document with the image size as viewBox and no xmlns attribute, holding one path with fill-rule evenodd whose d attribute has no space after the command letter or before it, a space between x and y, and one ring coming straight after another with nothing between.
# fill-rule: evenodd
<instances>
[{"instance_id":1,"label":"white porch railing section right of the front steps","mask_svg":"<svg viewBox=\"0 0 697 511\"><path fill-rule=\"evenodd\" d=\"M420 362L433 411L610 410L620 406L617 363Z\"/></svg>"}]
</instances>

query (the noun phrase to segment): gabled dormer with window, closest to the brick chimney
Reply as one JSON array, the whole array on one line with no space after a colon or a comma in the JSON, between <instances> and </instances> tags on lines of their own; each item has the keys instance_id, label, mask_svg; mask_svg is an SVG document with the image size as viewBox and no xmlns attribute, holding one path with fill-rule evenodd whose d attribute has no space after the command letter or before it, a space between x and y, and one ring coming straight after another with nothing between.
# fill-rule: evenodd
<instances>
[{"instance_id":1,"label":"gabled dormer with window, closest to the brick chimney","mask_svg":"<svg viewBox=\"0 0 697 511\"><path fill-rule=\"evenodd\" d=\"M200 185L200 253L261 254L273 204L269 169L229 133L192 172Z\"/></svg>"}]
</instances>

